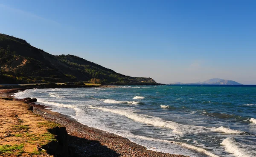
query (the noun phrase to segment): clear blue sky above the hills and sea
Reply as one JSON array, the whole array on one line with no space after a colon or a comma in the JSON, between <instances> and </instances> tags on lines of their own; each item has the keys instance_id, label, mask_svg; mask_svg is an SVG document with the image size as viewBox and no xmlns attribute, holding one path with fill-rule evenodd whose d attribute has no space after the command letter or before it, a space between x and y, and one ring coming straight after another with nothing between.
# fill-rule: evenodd
<instances>
[{"instance_id":1,"label":"clear blue sky above the hills and sea","mask_svg":"<svg viewBox=\"0 0 256 157\"><path fill-rule=\"evenodd\" d=\"M0 33L157 83L256 84L255 0L0 0Z\"/></svg>"}]
</instances>

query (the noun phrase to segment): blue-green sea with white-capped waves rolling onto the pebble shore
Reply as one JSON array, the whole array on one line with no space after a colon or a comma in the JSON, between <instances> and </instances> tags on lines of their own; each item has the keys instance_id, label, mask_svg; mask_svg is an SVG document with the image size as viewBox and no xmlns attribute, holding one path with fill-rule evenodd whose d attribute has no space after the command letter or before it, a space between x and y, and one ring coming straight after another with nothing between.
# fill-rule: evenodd
<instances>
[{"instance_id":1,"label":"blue-green sea with white-capped waves rolling onto the pebble shore","mask_svg":"<svg viewBox=\"0 0 256 157\"><path fill-rule=\"evenodd\" d=\"M145 146L190 157L256 157L256 85L29 89L17 98Z\"/></svg>"}]
</instances>

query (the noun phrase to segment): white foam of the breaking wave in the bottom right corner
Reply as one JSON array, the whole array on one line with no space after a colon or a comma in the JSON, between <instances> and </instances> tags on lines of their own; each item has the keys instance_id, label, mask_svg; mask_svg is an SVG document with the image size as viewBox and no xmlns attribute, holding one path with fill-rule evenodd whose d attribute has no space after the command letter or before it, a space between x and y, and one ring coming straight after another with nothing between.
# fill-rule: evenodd
<instances>
[{"instance_id":1,"label":"white foam of the breaking wave in the bottom right corner","mask_svg":"<svg viewBox=\"0 0 256 157\"><path fill-rule=\"evenodd\" d=\"M250 151L241 148L239 143L232 137L227 137L222 141L221 145L226 148L226 151L234 154L236 157L253 157L253 154L250 154Z\"/></svg>"}]
</instances>

